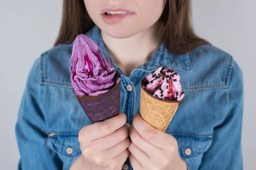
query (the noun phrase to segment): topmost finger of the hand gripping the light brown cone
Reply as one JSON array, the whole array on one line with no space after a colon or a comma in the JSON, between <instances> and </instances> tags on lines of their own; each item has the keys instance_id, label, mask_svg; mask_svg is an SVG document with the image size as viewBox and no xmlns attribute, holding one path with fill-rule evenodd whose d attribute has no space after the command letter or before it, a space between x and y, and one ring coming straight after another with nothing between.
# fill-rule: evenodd
<instances>
[{"instance_id":1,"label":"topmost finger of the hand gripping the light brown cone","mask_svg":"<svg viewBox=\"0 0 256 170\"><path fill-rule=\"evenodd\" d=\"M168 134L157 130L149 125L148 122L143 120L140 115L134 116L132 124L134 128L138 131L138 133L140 133L143 139L145 139L147 142L162 149L167 148L166 141L170 142L170 137L168 136Z\"/></svg>"}]
</instances>

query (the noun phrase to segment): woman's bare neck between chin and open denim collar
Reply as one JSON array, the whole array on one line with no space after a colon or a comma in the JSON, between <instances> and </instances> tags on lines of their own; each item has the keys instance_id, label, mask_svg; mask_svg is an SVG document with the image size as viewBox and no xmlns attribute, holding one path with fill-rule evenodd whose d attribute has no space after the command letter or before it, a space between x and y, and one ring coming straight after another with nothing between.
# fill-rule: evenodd
<instances>
[{"instance_id":1,"label":"woman's bare neck between chin and open denim collar","mask_svg":"<svg viewBox=\"0 0 256 170\"><path fill-rule=\"evenodd\" d=\"M159 23L156 23L139 34L123 39L101 32L109 56L126 75L129 76L132 70L150 60L157 51L161 44L158 26Z\"/></svg>"}]
</instances>

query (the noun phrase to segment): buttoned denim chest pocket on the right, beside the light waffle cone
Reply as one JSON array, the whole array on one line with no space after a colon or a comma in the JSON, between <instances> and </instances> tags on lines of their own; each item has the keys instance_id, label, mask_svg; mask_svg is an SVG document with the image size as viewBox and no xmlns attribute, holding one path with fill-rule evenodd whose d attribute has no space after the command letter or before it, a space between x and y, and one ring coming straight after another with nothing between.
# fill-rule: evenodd
<instances>
[{"instance_id":1,"label":"buttoned denim chest pocket on the right, beside the light waffle cone","mask_svg":"<svg viewBox=\"0 0 256 170\"><path fill-rule=\"evenodd\" d=\"M186 161L189 170L198 170L204 153L212 144L212 134L197 134L166 131L175 137L179 154Z\"/></svg>"}]
</instances>

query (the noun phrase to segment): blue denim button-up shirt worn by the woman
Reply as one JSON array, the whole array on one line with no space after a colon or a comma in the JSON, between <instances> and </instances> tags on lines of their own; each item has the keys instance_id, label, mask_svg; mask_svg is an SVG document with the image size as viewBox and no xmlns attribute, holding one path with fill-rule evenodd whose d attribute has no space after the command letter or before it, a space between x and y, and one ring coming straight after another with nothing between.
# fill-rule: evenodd
<instances>
[{"instance_id":1,"label":"blue denim button-up shirt worn by the woman","mask_svg":"<svg viewBox=\"0 0 256 170\"><path fill-rule=\"evenodd\" d=\"M189 170L241 170L243 80L233 58L212 45L175 55L160 45L154 56L128 77L111 61L100 30L86 34L122 74L120 113L132 124L140 113L140 81L160 66L174 68L185 96L166 133L175 137ZM16 136L21 170L68 170L81 154L79 130L90 121L70 84L73 44L58 45L38 58L23 94ZM132 88L127 88L132 87ZM132 170L129 160L125 162Z\"/></svg>"}]
</instances>

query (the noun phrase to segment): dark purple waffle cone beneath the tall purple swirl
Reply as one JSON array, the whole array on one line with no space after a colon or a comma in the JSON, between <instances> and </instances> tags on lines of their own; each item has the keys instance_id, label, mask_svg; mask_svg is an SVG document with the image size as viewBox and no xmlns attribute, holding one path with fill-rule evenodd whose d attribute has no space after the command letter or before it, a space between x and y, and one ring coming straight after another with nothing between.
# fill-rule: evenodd
<instances>
[{"instance_id":1,"label":"dark purple waffle cone beneath the tall purple swirl","mask_svg":"<svg viewBox=\"0 0 256 170\"><path fill-rule=\"evenodd\" d=\"M116 71L118 77L121 74ZM102 122L111 117L118 115L120 107L120 87L121 81L115 87L108 90L104 94L98 96L78 96L75 94L76 99L84 110L84 113L89 118L90 122Z\"/></svg>"}]
</instances>

